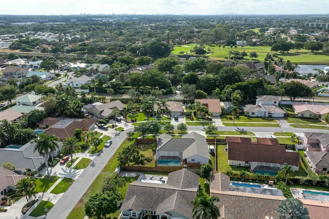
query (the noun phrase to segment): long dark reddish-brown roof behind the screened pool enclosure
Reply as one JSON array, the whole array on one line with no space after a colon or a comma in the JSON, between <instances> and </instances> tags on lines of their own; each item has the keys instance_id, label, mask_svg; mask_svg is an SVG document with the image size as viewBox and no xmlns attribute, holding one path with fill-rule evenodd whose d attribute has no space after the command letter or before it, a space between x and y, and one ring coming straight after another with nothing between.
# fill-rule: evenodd
<instances>
[{"instance_id":1,"label":"long dark reddish-brown roof behind the screened pool enclosure","mask_svg":"<svg viewBox=\"0 0 329 219\"><path fill-rule=\"evenodd\" d=\"M228 159L233 161L287 163L300 166L298 153L286 152L283 145L228 142Z\"/></svg>"}]
</instances>

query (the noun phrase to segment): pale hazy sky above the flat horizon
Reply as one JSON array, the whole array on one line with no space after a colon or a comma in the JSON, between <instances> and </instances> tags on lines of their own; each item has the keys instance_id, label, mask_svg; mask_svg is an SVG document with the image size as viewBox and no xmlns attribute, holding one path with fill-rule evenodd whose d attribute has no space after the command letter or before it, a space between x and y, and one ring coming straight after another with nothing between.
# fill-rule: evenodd
<instances>
[{"instance_id":1,"label":"pale hazy sky above the flat horizon","mask_svg":"<svg viewBox=\"0 0 329 219\"><path fill-rule=\"evenodd\" d=\"M15 0L0 14L328 14L329 0Z\"/></svg>"}]
</instances>

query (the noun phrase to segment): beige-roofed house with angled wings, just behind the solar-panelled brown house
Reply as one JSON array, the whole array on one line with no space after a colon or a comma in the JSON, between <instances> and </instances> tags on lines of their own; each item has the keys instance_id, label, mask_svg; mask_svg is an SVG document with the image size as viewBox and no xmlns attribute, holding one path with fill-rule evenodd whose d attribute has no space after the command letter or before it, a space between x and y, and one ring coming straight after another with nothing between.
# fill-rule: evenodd
<instances>
[{"instance_id":1,"label":"beige-roofed house with angled wings, just behind the solar-panelled brown house","mask_svg":"<svg viewBox=\"0 0 329 219\"><path fill-rule=\"evenodd\" d=\"M125 105L121 101L117 100L106 104L96 102L94 104L84 105L83 109L90 115L106 119L111 117L113 109L118 109L119 112L121 112L123 107L125 107Z\"/></svg>"}]
</instances>

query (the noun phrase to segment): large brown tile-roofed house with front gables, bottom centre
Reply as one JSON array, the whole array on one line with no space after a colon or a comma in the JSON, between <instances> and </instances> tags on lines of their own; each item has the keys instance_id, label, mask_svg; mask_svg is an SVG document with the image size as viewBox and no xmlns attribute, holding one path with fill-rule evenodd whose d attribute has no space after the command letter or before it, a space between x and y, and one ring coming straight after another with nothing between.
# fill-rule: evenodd
<instances>
[{"instance_id":1,"label":"large brown tile-roofed house with front gables, bottom centre","mask_svg":"<svg viewBox=\"0 0 329 219\"><path fill-rule=\"evenodd\" d=\"M191 201L198 187L199 176L187 169L169 173L166 184L135 181L128 186L120 208L121 218L143 218L151 211L151 215L161 219L192 219Z\"/></svg>"}]
</instances>

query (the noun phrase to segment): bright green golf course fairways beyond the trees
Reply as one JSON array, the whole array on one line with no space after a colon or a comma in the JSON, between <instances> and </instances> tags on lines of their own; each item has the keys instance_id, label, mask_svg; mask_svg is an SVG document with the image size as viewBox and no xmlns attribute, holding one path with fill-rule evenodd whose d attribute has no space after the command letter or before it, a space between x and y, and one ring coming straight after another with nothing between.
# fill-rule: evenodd
<instances>
[{"instance_id":1,"label":"bright green golf course fairways beyond the trees","mask_svg":"<svg viewBox=\"0 0 329 219\"><path fill-rule=\"evenodd\" d=\"M180 51L183 52L188 52L191 49L193 49L196 44L186 44L185 46L190 46L190 47L183 47L183 46L175 46L174 50L171 52L171 54L176 54L179 55ZM235 48L230 48L229 46L226 46L225 48L221 47L209 47L211 49L211 53L209 55L210 58L215 58L215 59L221 59L221 60L228 60L225 59L225 57L228 57L228 52L231 51L245 51L248 53L248 56L244 57L244 61L264 61L264 58L267 53L274 54L275 52L271 52L271 47L270 46L256 46L256 47L250 47L250 46L238 46L236 49ZM249 54L250 52L257 52L259 55L257 58L250 58ZM208 51L207 51L208 53ZM299 64L327 64L328 63L328 56L322 54L321 52L317 52L315 54L310 53L310 51L302 49L296 52L296 50L290 50L289 53L286 54L281 54L277 53L279 57L283 57L284 60L290 60L293 63L299 63Z\"/></svg>"}]
</instances>

